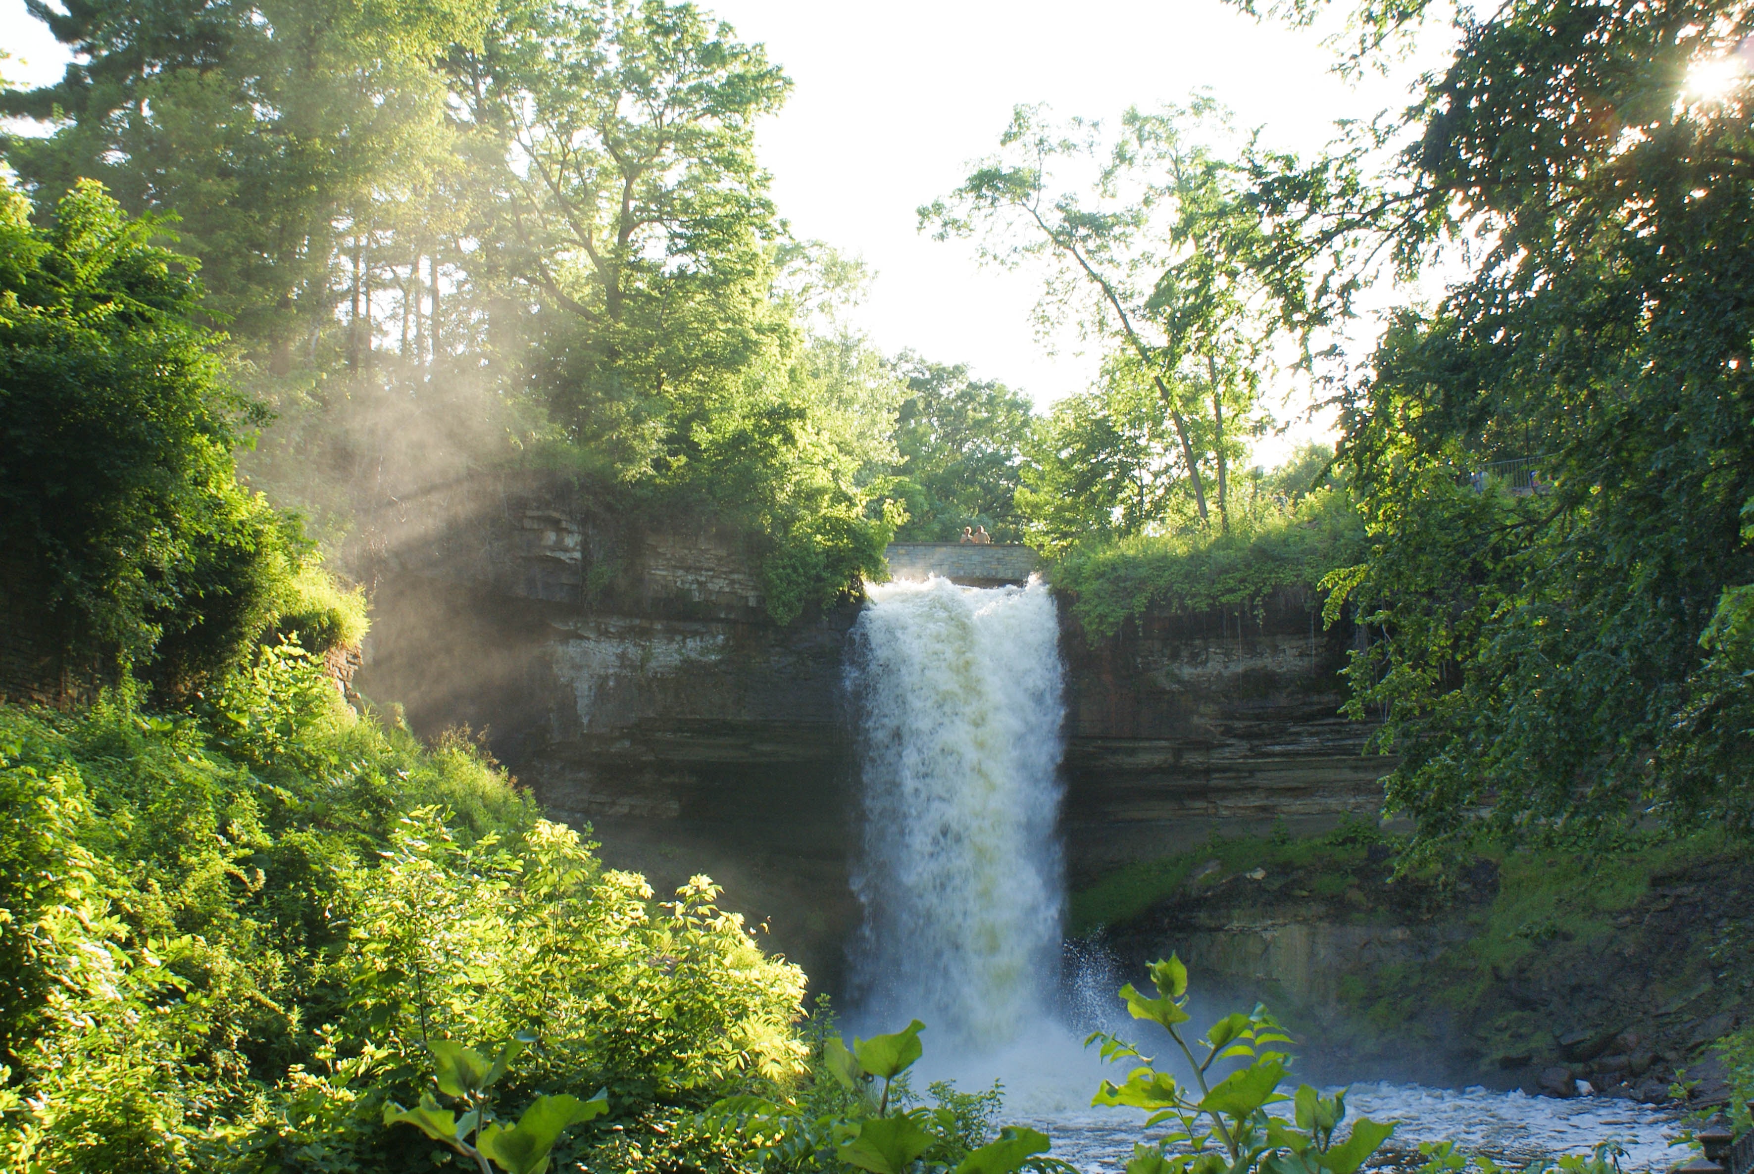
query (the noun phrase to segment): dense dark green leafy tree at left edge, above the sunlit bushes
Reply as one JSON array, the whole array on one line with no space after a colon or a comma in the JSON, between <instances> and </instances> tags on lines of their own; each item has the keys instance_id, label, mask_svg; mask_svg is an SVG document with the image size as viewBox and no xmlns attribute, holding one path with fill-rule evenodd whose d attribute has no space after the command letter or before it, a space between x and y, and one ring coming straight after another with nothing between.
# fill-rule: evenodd
<instances>
[{"instance_id":1,"label":"dense dark green leafy tree at left edge, above the sunlit bushes","mask_svg":"<svg viewBox=\"0 0 1754 1174\"><path fill-rule=\"evenodd\" d=\"M188 258L93 181L32 228L0 202L0 546L68 646L174 690L235 663L293 604L298 526L237 484L261 416L191 321Z\"/></svg>"}]
</instances>

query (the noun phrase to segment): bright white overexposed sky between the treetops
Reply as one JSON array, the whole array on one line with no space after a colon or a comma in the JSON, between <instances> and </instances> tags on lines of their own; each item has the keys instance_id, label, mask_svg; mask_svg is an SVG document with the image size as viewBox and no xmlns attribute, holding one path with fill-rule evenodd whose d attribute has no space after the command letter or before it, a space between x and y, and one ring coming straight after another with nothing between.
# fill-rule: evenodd
<instances>
[{"instance_id":1,"label":"bright white overexposed sky between the treetops","mask_svg":"<svg viewBox=\"0 0 1754 1174\"><path fill-rule=\"evenodd\" d=\"M998 144L1016 104L1058 116L1114 119L1128 105L1184 100L1198 88L1259 126L1270 146L1316 151L1342 118L1407 102L1430 56L1389 77L1347 82L1321 33L1259 23L1221 0L717 0L740 39L759 40L795 82L758 132L781 214L798 239L861 256L877 279L861 325L888 353L966 363L1045 407L1084 390L1098 354L1072 332L1035 337L1040 276L982 268L968 244L917 232L916 209L947 195ZM51 81L61 47L0 0L7 79ZM1435 51L1435 49L1431 49ZM1430 51L1428 51L1430 53ZM23 58L23 65L19 65ZM1287 391L1289 388L1282 388ZM1261 460L1321 437L1296 421L1296 393L1277 414L1293 426Z\"/></svg>"}]
</instances>

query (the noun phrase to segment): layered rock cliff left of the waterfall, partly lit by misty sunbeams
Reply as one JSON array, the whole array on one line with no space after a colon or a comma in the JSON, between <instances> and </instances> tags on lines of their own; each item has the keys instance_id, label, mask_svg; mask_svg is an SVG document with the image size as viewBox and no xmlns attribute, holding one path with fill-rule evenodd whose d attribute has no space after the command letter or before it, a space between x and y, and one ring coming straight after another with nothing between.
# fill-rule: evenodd
<instances>
[{"instance_id":1,"label":"layered rock cliff left of the waterfall, partly lit by misty sunbeams","mask_svg":"<svg viewBox=\"0 0 1754 1174\"><path fill-rule=\"evenodd\" d=\"M442 509L440 509L442 507ZM433 514L438 519L433 519ZM730 535L633 532L544 483L382 523L356 688L468 725L660 898L691 874L838 988L856 921L840 649L852 605L777 626Z\"/></svg>"}]
</instances>

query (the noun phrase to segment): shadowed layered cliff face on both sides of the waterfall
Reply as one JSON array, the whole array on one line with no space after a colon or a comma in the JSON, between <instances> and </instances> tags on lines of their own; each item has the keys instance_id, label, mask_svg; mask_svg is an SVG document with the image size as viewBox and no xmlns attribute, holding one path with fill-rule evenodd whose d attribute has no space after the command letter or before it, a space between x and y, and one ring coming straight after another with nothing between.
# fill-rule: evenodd
<instances>
[{"instance_id":1,"label":"shadowed layered cliff face on both sides of the waterfall","mask_svg":"<svg viewBox=\"0 0 1754 1174\"><path fill-rule=\"evenodd\" d=\"M379 519L356 686L431 735L484 732L544 807L665 893L695 872L842 990L856 779L842 686L856 605L775 626L730 535L638 533L565 486L475 486ZM1370 809L1380 767L1335 716L1344 637L1301 600L1238 634L1149 618L1068 667L1063 830L1073 876L1216 828ZM1314 649L1314 655L1312 655Z\"/></svg>"}]
</instances>

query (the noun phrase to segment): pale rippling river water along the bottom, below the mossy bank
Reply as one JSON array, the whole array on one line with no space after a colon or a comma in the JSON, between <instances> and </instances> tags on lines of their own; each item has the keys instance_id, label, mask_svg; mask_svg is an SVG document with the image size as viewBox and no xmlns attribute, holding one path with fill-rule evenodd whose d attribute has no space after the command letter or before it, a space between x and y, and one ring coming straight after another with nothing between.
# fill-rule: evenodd
<instances>
[{"instance_id":1,"label":"pale rippling river water along the bottom, below the mossy bank","mask_svg":"<svg viewBox=\"0 0 1754 1174\"><path fill-rule=\"evenodd\" d=\"M1454 1141L1461 1151L1486 1153L1514 1165L1589 1153L1603 1141L1617 1141L1626 1149L1621 1169L1628 1172L1668 1170L1687 1158L1686 1148L1670 1148L1680 1135L1679 1114L1631 1100L1552 1100L1484 1088L1454 1092L1422 1085L1352 1085L1345 1104L1349 1120L1396 1121L1394 1135L1370 1163L1377 1169L1419 1165L1417 1146L1428 1141ZM1117 1174L1133 1156L1133 1142L1142 1137L1142 1120L1124 1109L1061 1109L1051 1116L1033 1114L1026 1123L1052 1137L1052 1156L1084 1174Z\"/></svg>"}]
</instances>

